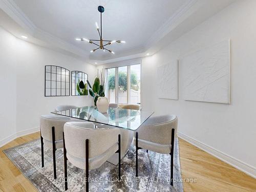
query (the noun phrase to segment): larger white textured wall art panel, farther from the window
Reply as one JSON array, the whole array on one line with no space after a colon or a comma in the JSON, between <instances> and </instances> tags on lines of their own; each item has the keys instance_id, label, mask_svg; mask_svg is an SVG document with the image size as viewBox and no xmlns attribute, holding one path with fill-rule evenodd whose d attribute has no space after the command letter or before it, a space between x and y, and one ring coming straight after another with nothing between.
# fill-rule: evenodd
<instances>
[{"instance_id":1,"label":"larger white textured wall art panel, farther from the window","mask_svg":"<svg viewBox=\"0 0 256 192\"><path fill-rule=\"evenodd\" d=\"M230 40L182 59L184 99L230 103Z\"/></svg>"}]
</instances>

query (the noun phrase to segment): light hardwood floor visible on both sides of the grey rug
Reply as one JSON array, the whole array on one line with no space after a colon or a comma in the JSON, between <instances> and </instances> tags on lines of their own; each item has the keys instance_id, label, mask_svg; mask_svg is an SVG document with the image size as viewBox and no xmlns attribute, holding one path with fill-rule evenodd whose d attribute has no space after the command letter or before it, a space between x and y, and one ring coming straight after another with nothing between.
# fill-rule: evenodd
<instances>
[{"instance_id":1,"label":"light hardwood floor visible on both sides of the grey rug","mask_svg":"<svg viewBox=\"0 0 256 192\"><path fill-rule=\"evenodd\" d=\"M37 191L3 150L39 138L39 133L19 137L0 148L0 192ZM256 179L180 139L180 161L184 191L256 191Z\"/></svg>"}]
</instances>

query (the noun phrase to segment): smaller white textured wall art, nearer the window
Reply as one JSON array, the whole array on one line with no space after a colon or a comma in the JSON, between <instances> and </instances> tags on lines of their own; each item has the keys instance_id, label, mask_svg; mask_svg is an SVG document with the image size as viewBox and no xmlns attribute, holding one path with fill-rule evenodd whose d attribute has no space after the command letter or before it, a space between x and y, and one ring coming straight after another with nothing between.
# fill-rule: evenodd
<instances>
[{"instance_id":1,"label":"smaller white textured wall art, nearer the window","mask_svg":"<svg viewBox=\"0 0 256 192\"><path fill-rule=\"evenodd\" d=\"M157 70L158 98L179 99L179 61L169 62Z\"/></svg>"}]
</instances>

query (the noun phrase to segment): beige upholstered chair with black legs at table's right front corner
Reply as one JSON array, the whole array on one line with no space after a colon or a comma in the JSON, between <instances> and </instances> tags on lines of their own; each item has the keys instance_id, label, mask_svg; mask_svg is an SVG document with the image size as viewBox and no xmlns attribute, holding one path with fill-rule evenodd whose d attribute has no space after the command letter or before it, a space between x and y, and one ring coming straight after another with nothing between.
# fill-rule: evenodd
<instances>
[{"instance_id":1,"label":"beige upholstered chair with black legs at table's right front corner","mask_svg":"<svg viewBox=\"0 0 256 192\"><path fill-rule=\"evenodd\" d=\"M177 137L178 118L176 115L164 115L148 118L134 132L136 146L136 177L138 176L138 150L148 150L170 154L170 184L173 185L174 140Z\"/></svg>"}]
</instances>

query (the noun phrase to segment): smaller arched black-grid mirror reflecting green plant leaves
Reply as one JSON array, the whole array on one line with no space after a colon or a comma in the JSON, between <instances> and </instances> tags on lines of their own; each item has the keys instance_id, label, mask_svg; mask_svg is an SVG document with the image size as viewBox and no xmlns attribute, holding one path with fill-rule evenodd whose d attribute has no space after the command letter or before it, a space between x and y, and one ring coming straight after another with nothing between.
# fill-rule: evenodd
<instances>
[{"instance_id":1,"label":"smaller arched black-grid mirror reflecting green plant leaves","mask_svg":"<svg viewBox=\"0 0 256 192\"><path fill-rule=\"evenodd\" d=\"M71 76L72 76L71 95L88 95L88 84L87 84L88 75L81 71L72 71ZM84 83L84 86L85 86L84 89L79 88L79 83L81 80Z\"/></svg>"}]
</instances>

